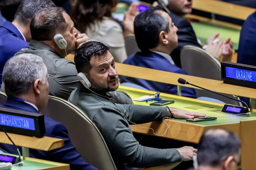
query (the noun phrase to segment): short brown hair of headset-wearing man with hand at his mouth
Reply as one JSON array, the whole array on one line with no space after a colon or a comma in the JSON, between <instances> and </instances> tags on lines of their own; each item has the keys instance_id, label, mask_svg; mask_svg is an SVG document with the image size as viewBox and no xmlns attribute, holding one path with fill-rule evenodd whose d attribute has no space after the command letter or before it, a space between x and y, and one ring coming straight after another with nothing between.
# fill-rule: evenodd
<instances>
[{"instance_id":1,"label":"short brown hair of headset-wearing man with hand at his mouth","mask_svg":"<svg viewBox=\"0 0 256 170\"><path fill-rule=\"evenodd\" d=\"M38 11L30 24L33 40L51 40L54 35L64 33L67 23L63 17L64 9L61 7L45 8Z\"/></svg>"}]
</instances>

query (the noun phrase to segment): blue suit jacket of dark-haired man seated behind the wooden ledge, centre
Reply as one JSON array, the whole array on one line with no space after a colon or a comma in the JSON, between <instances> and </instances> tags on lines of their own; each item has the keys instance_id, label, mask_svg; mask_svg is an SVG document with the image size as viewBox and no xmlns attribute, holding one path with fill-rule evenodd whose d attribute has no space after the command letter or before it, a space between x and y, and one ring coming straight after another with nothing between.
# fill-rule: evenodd
<instances>
[{"instance_id":1,"label":"blue suit jacket of dark-haired man seated behind the wooden ledge, centre","mask_svg":"<svg viewBox=\"0 0 256 170\"><path fill-rule=\"evenodd\" d=\"M162 55L157 54L155 52L151 52L151 51L137 52L137 53L131 55L130 57L128 57L124 61L124 64L187 75L186 71L171 64ZM149 90L161 91L164 93L170 93L170 94L177 95L177 85L170 85L170 84L166 84L166 83L159 83L159 82L125 77L125 76L120 76L120 82L121 83L124 83L124 82L135 83L135 84L141 85ZM182 96L196 98L195 90L193 88L189 88L189 87L182 87Z\"/></svg>"}]
</instances>

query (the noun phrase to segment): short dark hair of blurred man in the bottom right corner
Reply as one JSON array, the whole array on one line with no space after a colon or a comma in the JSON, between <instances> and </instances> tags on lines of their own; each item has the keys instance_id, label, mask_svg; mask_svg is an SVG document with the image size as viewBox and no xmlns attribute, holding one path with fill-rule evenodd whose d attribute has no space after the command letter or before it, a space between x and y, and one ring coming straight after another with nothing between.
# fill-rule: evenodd
<instances>
[{"instance_id":1,"label":"short dark hair of blurred man in the bottom right corner","mask_svg":"<svg viewBox=\"0 0 256 170\"><path fill-rule=\"evenodd\" d=\"M209 130L198 144L198 166L216 167L228 156L238 154L240 147L239 138L234 133L220 129Z\"/></svg>"}]
</instances>

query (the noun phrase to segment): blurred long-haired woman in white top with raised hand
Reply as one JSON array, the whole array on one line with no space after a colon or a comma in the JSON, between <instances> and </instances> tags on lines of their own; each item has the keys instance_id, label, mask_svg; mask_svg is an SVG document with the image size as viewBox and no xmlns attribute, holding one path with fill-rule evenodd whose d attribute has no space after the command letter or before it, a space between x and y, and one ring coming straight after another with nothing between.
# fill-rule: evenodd
<instances>
[{"instance_id":1,"label":"blurred long-haired woman in white top with raised hand","mask_svg":"<svg viewBox=\"0 0 256 170\"><path fill-rule=\"evenodd\" d=\"M124 13L122 27L111 13L117 10L118 0L75 0L72 19L75 27L85 32L92 41L99 41L110 48L116 62L122 63L126 58L124 37L133 34L133 22L138 14L138 3L132 3Z\"/></svg>"}]
</instances>

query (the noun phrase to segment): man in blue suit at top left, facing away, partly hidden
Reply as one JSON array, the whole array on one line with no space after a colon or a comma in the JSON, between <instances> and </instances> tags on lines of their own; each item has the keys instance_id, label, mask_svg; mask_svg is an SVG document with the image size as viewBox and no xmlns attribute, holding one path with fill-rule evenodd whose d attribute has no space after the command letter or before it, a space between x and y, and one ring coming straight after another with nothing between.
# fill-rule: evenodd
<instances>
[{"instance_id":1,"label":"man in blue suit at top left, facing away, partly hidden","mask_svg":"<svg viewBox=\"0 0 256 170\"><path fill-rule=\"evenodd\" d=\"M5 62L22 48L28 47L30 22L39 10L47 7L55 7L55 4L51 0L24 0L13 22L6 21L0 27L0 86Z\"/></svg>"}]
</instances>

